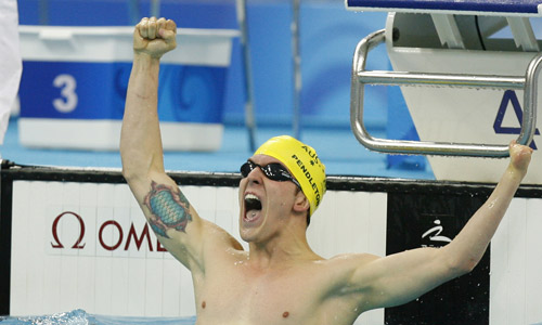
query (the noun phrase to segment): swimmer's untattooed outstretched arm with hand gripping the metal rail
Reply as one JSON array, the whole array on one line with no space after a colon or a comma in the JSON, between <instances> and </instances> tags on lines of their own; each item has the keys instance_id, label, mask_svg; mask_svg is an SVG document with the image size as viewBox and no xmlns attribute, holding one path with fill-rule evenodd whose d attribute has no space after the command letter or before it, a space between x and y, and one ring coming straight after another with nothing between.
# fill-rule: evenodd
<instances>
[{"instance_id":1,"label":"swimmer's untattooed outstretched arm with hand gripping the metal rail","mask_svg":"<svg viewBox=\"0 0 542 325\"><path fill-rule=\"evenodd\" d=\"M345 291L354 294L363 310L391 307L470 272L482 258L527 173L532 150L513 142L509 152L511 162L491 196L450 244L385 258L359 257L358 265L346 273Z\"/></svg>"}]
</instances>

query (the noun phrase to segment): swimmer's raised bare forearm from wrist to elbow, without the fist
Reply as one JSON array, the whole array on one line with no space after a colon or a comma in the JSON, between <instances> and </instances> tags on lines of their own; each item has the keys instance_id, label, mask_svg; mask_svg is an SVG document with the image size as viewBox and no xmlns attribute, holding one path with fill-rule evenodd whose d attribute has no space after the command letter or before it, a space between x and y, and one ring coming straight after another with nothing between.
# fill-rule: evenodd
<instances>
[{"instance_id":1,"label":"swimmer's raised bare forearm from wrist to elbow, without the fist","mask_svg":"<svg viewBox=\"0 0 542 325\"><path fill-rule=\"evenodd\" d=\"M157 114L159 60L136 54L120 135L125 177L164 169Z\"/></svg>"}]
</instances>

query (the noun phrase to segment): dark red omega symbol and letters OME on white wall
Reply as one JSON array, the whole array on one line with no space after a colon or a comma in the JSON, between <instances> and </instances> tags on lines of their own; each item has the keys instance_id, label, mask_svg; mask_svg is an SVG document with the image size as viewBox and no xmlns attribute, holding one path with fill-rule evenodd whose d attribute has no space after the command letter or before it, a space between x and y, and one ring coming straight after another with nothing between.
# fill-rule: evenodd
<instances>
[{"instance_id":1,"label":"dark red omega symbol and letters OME on white wall","mask_svg":"<svg viewBox=\"0 0 542 325\"><path fill-rule=\"evenodd\" d=\"M73 211L65 211L56 216L54 218L53 224L52 224L52 235L54 243L51 243L51 246L55 249L63 249L64 244L61 242L61 238L59 237L59 223L62 218L64 217L75 217L77 221L79 222L79 236L75 244L72 246L72 249L83 249L86 243L83 242L85 235L86 235L86 226L85 226L85 220L81 218L81 216L77 214L76 212ZM116 232L118 239L115 243L107 243L104 240L104 231L106 229L109 229L113 232ZM107 220L103 222L98 231L98 243L100 243L100 246L104 248L105 250L117 250L118 248L121 247L122 240L125 239L125 233L126 231L122 230L122 226L115 220ZM133 225L133 222L130 224L130 229L128 230L128 235L126 236L126 243L121 249L128 250L130 247L131 242L136 243L136 247L138 250L141 249L141 246L143 245L143 242L146 239L146 244L149 246L149 251L154 251L153 249L153 244L151 242L151 232L149 231L149 224L145 223L145 226L143 227L141 234L138 236L138 233L136 231L136 227ZM162 244L156 240L156 251L167 251Z\"/></svg>"}]
</instances>

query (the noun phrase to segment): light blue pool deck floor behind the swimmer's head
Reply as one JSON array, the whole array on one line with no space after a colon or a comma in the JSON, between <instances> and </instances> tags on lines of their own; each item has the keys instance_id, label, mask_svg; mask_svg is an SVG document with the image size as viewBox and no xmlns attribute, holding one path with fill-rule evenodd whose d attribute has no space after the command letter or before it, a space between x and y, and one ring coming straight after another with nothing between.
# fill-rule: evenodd
<instances>
[{"instance_id":1,"label":"light blue pool deck floor behind the swimmer's head","mask_svg":"<svg viewBox=\"0 0 542 325\"><path fill-rule=\"evenodd\" d=\"M289 128L259 128L257 145L271 136L292 133ZM385 136L375 133L376 136ZM46 135L47 136L47 135ZM302 128L301 141L312 145L330 176L360 176L434 180L428 164L425 169L387 168L386 155L364 148L347 128ZM27 148L18 140L17 119L12 118L3 145L2 159L18 165L76 168L120 169L117 151L67 151ZM225 126L222 145L212 153L166 152L165 168L171 171L237 172L238 167L251 155L248 134L244 127Z\"/></svg>"}]
</instances>

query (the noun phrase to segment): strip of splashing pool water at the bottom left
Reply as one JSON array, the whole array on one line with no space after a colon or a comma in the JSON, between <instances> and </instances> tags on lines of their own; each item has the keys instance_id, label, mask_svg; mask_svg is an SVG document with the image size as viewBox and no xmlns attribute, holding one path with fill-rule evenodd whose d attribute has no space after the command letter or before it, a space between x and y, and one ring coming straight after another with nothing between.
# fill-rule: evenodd
<instances>
[{"instance_id":1,"label":"strip of splashing pool water at the bottom left","mask_svg":"<svg viewBox=\"0 0 542 325\"><path fill-rule=\"evenodd\" d=\"M92 315L77 309L70 312L41 316L1 317L0 325L194 325L195 316L191 317L122 317Z\"/></svg>"}]
</instances>

